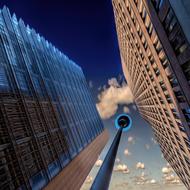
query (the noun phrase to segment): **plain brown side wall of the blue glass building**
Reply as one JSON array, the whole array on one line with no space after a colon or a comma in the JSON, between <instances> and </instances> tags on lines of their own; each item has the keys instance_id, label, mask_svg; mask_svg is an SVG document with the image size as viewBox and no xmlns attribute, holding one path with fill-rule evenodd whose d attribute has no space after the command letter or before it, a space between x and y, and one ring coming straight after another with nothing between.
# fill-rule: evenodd
<instances>
[{"instance_id":1,"label":"plain brown side wall of the blue glass building","mask_svg":"<svg viewBox=\"0 0 190 190\"><path fill-rule=\"evenodd\" d=\"M104 130L45 187L45 190L79 190L108 138L108 131Z\"/></svg>"}]
</instances>

